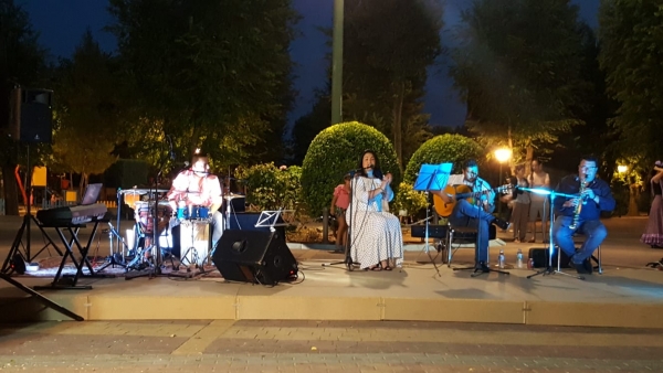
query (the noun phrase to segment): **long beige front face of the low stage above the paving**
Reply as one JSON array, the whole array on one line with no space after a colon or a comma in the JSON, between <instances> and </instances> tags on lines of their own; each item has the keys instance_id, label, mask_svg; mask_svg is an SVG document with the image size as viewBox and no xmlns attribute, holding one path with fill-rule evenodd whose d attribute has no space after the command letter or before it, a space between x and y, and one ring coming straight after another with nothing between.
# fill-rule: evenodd
<instances>
[{"instance_id":1,"label":"long beige front face of the low stage above the paving","mask_svg":"<svg viewBox=\"0 0 663 373\"><path fill-rule=\"evenodd\" d=\"M52 295L86 320L400 320L663 329L663 305L324 297ZM0 298L2 322L69 320L32 298Z\"/></svg>"}]
</instances>

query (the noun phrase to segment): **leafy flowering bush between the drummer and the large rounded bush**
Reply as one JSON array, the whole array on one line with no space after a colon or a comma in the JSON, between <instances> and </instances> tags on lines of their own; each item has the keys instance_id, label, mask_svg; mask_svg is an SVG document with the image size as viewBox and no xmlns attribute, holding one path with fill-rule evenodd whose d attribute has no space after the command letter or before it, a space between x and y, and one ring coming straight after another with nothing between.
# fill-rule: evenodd
<instances>
[{"instance_id":1,"label":"leafy flowering bush between the drummer and the large rounded bush","mask_svg":"<svg viewBox=\"0 0 663 373\"><path fill-rule=\"evenodd\" d=\"M238 169L238 178L248 186L246 202L255 209L275 211L296 210L302 191L302 168L297 166L280 170L274 163L255 164Z\"/></svg>"}]
</instances>

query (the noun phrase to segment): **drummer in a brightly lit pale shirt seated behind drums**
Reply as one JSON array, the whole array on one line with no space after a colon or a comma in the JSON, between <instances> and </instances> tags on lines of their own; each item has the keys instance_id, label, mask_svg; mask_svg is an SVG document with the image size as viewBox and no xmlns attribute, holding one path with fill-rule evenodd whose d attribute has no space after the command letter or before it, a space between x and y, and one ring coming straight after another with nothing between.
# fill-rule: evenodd
<instances>
[{"instance_id":1,"label":"drummer in a brightly lit pale shirt seated behind drums","mask_svg":"<svg viewBox=\"0 0 663 373\"><path fill-rule=\"evenodd\" d=\"M178 207L204 206L212 216L212 247L223 234L223 215L221 206L221 182L210 172L207 156L193 156L191 168L181 171L172 181L172 186L166 195L172 211Z\"/></svg>"}]
</instances>

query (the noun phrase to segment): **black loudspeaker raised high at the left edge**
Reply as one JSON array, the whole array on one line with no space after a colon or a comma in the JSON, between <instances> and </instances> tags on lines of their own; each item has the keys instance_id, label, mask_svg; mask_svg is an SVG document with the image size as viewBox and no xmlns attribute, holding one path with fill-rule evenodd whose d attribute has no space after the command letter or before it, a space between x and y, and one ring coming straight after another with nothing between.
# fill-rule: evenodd
<instances>
[{"instance_id":1,"label":"black loudspeaker raised high at the left edge","mask_svg":"<svg viewBox=\"0 0 663 373\"><path fill-rule=\"evenodd\" d=\"M12 92L10 136L23 142L51 142L53 137L53 92L20 89Z\"/></svg>"}]
</instances>

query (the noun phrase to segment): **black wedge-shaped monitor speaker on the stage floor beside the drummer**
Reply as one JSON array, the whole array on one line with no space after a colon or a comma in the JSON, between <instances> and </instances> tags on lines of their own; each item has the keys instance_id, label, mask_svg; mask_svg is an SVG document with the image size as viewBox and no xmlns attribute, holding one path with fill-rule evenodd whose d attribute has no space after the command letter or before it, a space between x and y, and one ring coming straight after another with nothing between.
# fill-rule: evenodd
<instances>
[{"instance_id":1,"label":"black wedge-shaped monitor speaker on the stage floor beside the drummer","mask_svg":"<svg viewBox=\"0 0 663 373\"><path fill-rule=\"evenodd\" d=\"M229 281L276 285L297 275L297 262L280 232L227 230L212 262Z\"/></svg>"}]
</instances>

